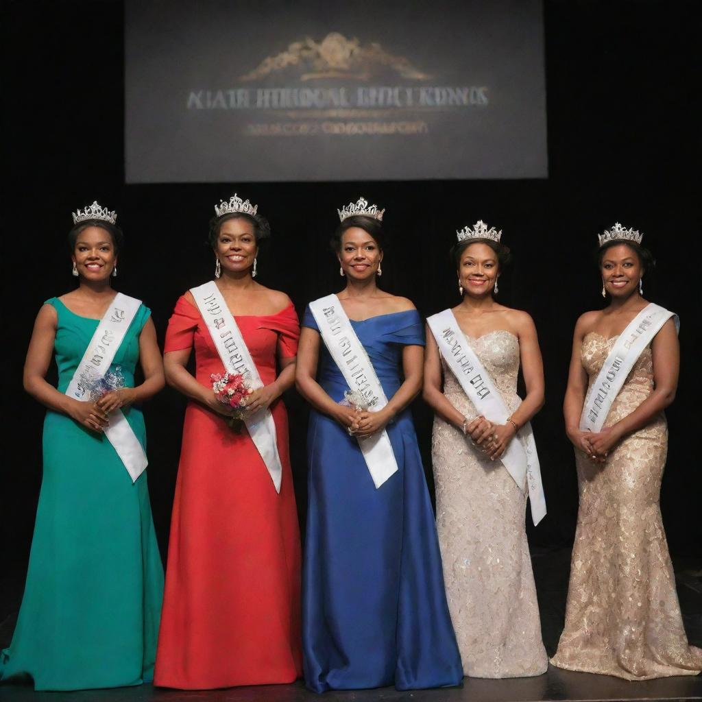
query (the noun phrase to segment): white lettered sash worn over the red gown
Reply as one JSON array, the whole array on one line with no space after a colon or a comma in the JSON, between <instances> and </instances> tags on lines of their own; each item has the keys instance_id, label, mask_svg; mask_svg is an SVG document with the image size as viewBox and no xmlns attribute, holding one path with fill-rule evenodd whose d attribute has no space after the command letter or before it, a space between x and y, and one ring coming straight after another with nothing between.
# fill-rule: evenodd
<instances>
[{"instance_id":1,"label":"white lettered sash worn over the red gown","mask_svg":"<svg viewBox=\"0 0 702 702\"><path fill-rule=\"evenodd\" d=\"M251 358L249 348L218 287L210 281L193 288L190 292L227 372L241 373L242 376L246 376L252 390L263 388L263 381ZM283 479L283 466L278 454L275 422L270 409L258 410L247 415L244 418L244 424L270 473L275 491L279 493Z\"/></svg>"}]
</instances>

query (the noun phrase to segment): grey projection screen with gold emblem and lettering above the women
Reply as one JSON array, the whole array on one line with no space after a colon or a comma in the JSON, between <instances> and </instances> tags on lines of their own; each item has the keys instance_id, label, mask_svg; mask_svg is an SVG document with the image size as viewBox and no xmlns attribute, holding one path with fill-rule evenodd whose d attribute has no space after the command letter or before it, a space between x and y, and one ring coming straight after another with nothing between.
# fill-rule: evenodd
<instances>
[{"instance_id":1,"label":"grey projection screen with gold emblem and lettering above the women","mask_svg":"<svg viewBox=\"0 0 702 702\"><path fill-rule=\"evenodd\" d=\"M547 173L541 0L127 0L125 33L128 183Z\"/></svg>"}]
</instances>

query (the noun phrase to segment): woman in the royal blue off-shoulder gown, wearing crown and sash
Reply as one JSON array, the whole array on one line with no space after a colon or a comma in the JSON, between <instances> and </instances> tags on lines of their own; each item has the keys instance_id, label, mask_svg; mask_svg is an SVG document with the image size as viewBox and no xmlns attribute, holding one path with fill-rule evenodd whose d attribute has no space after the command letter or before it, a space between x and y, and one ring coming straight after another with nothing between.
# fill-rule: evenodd
<instances>
[{"instance_id":1,"label":"woman in the royal blue off-shoulder gown, wearing crown and sash","mask_svg":"<svg viewBox=\"0 0 702 702\"><path fill-rule=\"evenodd\" d=\"M408 409L422 382L420 317L376 286L383 211L359 199L339 216L333 247L346 286L310 303L296 373L314 407L305 681L317 692L456 685L461 660Z\"/></svg>"}]
</instances>

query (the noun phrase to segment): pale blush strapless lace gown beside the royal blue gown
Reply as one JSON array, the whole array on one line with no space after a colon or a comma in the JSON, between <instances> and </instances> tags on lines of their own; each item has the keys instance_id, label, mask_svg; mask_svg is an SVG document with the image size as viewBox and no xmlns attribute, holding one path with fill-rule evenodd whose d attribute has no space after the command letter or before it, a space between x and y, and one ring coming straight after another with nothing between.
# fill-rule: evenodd
<instances>
[{"instance_id":1,"label":"pale blush strapless lace gown beside the royal blue gown","mask_svg":"<svg viewBox=\"0 0 702 702\"><path fill-rule=\"evenodd\" d=\"M510 411L517 395L519 342L508 331L468 338ZM468 418L475 407L442 359L444 395ZM432 435L437 531L451 620L471 677L541 675L534 574L524 530L527 495L499 461L475 449L463 432L437 417Z\"/></svg>"}]
</instances>

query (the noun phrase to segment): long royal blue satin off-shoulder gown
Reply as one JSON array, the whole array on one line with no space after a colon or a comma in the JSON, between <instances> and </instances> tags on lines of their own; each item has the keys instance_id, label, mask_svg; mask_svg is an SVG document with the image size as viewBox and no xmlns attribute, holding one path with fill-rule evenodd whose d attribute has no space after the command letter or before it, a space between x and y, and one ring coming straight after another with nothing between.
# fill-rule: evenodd
<instances>
[{"instance_id":1,"label":"long royal blue satin off-shoulder gown","mask_svg":"<svg viewBox=\"0 0 702 702\"><path fill-rule=\"evenodd\" d=\"M385 395L402 384L402 347L424 345L416 310L351 324ZM307 307L303 326L319 331ZM317 382L348 389L321 343ZM310 689L460 684L461 656L411 413L387 427L399 471L376 489L357 439L312 410L303 566L303 652Z\"/></svg>"}]
</instances>

